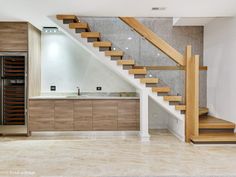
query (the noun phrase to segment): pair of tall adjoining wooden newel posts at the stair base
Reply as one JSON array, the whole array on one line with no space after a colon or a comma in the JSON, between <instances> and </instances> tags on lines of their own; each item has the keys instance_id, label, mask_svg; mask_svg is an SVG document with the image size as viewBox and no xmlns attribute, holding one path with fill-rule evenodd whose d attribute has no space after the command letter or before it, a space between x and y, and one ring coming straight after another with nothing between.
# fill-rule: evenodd
<instances>
[{"instance_id":1,"label":"pair of tall adjoining wooden newel posts at the stair base","mask_svg":"<svg viewBox=\"0 0 236 177\"><path fill-rule=\"evenodd\" d=\"M199 135L199 56L192 56L192 47L185 51L185 141L190 142L191 136Z\"/></svg>"}]
</instances>

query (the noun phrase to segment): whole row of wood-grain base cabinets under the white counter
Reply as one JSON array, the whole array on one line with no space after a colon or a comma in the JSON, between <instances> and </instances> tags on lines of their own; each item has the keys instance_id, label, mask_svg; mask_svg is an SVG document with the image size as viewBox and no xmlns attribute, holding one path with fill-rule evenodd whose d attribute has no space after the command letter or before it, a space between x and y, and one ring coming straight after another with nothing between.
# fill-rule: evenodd
<instances>
[{"instance_id":1,"label":"whole row of wood-grain base cabinets under the white counter","mask_svg":"<svg viewBox=\"0 0 236 177\"><path fill-rule=\"evenodd\" d=\"M139 100L29 101L30 131L139 130Z\"/></svg>"}]
</instances>

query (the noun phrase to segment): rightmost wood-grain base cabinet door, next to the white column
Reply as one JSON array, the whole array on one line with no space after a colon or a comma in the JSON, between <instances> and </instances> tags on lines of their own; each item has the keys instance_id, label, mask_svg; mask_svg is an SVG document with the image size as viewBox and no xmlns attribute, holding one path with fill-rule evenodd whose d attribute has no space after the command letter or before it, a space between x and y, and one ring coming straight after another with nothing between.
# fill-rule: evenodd
<instances>
[{"instance_id":1,"label":"rightmost wood-grain base cabinet door, next to the white column","mask_svg":"<svg viewBox=\"0 0 236 177\"><path fill-rule=\"evenodd\" d=\"M118 130L137 130L137 100L118 102Z\"/></svg>"}]
</instances>

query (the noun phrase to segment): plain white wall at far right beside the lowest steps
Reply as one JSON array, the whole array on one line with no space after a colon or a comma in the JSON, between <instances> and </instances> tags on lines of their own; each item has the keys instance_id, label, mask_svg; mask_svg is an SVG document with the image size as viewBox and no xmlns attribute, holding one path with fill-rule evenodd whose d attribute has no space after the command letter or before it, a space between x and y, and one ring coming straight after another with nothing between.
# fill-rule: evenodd
<instances>
[{"instance_id":1,"label":"plain white wall at far right beside the lowest steps","mask_svg":"<svg viewBox=\"0 0 236 177\"><path fill-rule=\"evenodd\" d=\"M236 123L236 17L217 18L205 26L204 65L210 113Z\"/></svg>"}]
</instances>

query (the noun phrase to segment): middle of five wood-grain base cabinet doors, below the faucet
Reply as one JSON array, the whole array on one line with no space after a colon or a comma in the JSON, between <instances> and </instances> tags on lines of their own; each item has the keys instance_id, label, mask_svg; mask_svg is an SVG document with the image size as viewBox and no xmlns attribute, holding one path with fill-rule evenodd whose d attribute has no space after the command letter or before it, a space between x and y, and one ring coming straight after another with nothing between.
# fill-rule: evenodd
<instances>
[{"instance_id":1,"label":"middle of five wood-grain base cabinet doors, below the faucet","mask_svg":"<svg viewBox=\"0 0 236 177\"><path fill-rule=\"evenodd\" d=\"M74 101L74 130L91 131L92 126L92 100Z\"/></svg>"}]
</instances>

